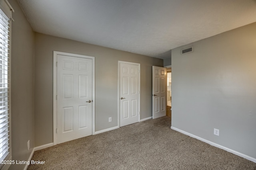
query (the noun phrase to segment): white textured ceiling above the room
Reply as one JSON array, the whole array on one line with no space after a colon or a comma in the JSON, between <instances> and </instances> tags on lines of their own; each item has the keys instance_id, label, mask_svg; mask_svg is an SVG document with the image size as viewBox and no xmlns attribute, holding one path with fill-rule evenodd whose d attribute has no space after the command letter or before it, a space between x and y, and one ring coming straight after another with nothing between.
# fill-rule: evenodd
<instances>
[{"instance_id":1,"label":"white textured ceiling above the room","mask_svg":"<svg viewBox=\"0 0 256 170\"><path fill-rule=\"evenodd\" d=\"M162 59L256 22L256 0L17 1L36 32Z\"/></svg>"}]
</instances>

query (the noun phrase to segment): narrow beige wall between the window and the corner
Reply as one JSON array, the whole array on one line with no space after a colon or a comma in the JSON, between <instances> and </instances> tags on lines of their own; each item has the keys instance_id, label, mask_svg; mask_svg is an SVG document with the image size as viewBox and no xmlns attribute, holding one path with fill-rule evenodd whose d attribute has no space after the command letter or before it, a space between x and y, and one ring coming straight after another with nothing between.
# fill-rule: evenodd
<instances>
[{"instance_id":1,"label":"narrow beige wall between the window and the corner","mask_svg":"<svg viewBox=\"0 0 256 170\"><path fill-rule=\"evenodd\" d=\"M12 14L11 139L12 160L28 160L34 148L34 31L16 0ZM30 150L27 142L30 140ZM25 165L11 165L12 170Z\"/></svg>"}]
</instances>

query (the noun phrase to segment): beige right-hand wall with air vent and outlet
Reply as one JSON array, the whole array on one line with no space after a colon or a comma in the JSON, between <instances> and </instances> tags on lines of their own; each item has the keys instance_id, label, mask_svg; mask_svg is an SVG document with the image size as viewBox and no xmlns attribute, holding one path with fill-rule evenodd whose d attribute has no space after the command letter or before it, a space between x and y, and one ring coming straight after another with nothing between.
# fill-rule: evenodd
<instances>
[{"instance_id":1,"label":"beige right-hand wall with air vent and outlet","mask_svg":"<svg viewBox=\"0 0 256 170\"><path fill-rule=\"evenodd\" d=\"M256 158L256 23L172 49L172 127Z\"/></svg>"}]
</instances>

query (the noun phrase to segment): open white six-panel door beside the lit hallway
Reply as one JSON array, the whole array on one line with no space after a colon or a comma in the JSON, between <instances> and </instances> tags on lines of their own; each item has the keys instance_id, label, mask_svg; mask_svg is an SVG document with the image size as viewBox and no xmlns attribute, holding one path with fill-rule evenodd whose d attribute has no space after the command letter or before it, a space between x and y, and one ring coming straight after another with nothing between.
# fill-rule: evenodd
<instances>
[{"instance_id":1,"label":"open white six-panel door beside the lit hallway","mask_svg":"<svg viewBox=\"0 0 256 170\"><path fill-rule=\"evenodd\" d=\"M156 119L166 115L166 68L152 66L152 117Z\"/></svg>"}]
</instances>

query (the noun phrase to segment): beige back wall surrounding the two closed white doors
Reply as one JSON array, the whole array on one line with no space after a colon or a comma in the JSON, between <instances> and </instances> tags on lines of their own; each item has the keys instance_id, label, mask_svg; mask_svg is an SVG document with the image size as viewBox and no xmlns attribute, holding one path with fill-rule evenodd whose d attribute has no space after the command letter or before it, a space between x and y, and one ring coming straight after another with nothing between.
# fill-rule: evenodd
<instances>
[{"instance_id":1,"label":"beige back wall surrounding the two closed white doors","mask_svg":"<svg viewBox=\"0 0 256 170\"><path fill-rule=\"evenodd\" d=\"M95 131L118 125L118 60L141 64L141 119L152 116L152 65L162 59L35 33L35 146L53 142L53 51L95 57Z\"/></svg>"}]
</instances>

